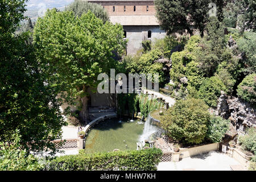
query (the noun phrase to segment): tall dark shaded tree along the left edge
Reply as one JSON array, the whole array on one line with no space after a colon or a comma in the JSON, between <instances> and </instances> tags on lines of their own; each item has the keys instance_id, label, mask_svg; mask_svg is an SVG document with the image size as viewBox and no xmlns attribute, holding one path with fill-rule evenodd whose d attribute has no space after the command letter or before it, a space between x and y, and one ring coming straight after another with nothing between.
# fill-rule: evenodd
<instances>
[{"instance_id":1,"label":"tall dark shaded tree along the left edge","mask_svg":"<svg viewBox=\"0 0 256 182\"><path fill-rule=\"evenodd\" d=\"M28 34L14 34L24 19L24 1L0 5L0 140L9 142L18 129L20 145L27 151L55 152L51 140L61 137L64 125L56 90L46 84L34 48L27 44Z\"/></svg>"}]
</instances>

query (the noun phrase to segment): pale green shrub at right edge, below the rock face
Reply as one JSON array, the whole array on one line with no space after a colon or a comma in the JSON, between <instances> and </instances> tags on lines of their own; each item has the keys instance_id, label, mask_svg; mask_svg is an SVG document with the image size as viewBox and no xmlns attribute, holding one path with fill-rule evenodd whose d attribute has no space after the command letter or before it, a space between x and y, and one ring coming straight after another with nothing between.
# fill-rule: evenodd
<instances>
[{"instance_id":1,"label":"pale green shrub at right edge, below the rock face","mask_svg":"<svg viewBox=\"0 0 256 182\"><path fill-rule=\"evenodd\" d=\"M256 129L251 127L247 129L246 135L238 138L239 143L244 150L253 152L256 154Z\"/></svg>"}]
</instances>

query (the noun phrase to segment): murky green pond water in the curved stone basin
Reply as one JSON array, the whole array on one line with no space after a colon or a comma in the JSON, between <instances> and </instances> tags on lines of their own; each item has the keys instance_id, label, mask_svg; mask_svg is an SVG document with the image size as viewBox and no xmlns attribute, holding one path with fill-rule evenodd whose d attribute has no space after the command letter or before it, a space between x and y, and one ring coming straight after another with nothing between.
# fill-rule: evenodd
<instances>
[{"instance_id":1,"label":"murky green pond water in the curved stone basin","mask_svg":"<svg viewBox=\"0 0 256 182\"><path fill-rule=\"evenodd\" d=\"M88 132L85 142L85 151L88 153L100 151L136 150L139 136L143 133L144 124L134 119L127 122L129 118L108 119L98 123ZM124 141L125 140L125 141ZM127 145L127 147L126 147Z\"/></svg>"}]
</instances>

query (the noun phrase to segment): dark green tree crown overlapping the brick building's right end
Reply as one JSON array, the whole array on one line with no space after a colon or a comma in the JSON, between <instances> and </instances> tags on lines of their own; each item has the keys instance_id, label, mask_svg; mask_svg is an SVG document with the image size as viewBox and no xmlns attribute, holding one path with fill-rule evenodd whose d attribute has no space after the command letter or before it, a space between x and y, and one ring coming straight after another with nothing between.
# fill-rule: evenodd
<instances>
[{"instance_id":1,"label":"dark green tree crown overlapping the brick building's right end","mask_svg":"<svg viewBox=\"0 0 256 182\"><path fill-rule=\"evenodd\" d=\"M209 16L209 3L210 1L157 0L155 1L156 16L168 34L174 32L183 34L187 30L190 35L193 35L190 28L193 26L199 28L203 36Z\"/></svg>"}]
</instances>

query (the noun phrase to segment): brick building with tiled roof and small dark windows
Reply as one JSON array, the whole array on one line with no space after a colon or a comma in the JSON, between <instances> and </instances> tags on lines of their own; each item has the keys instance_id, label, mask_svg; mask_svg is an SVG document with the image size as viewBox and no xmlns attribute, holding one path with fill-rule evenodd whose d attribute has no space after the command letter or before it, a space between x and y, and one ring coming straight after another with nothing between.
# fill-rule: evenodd
<instances>
[{"instance_id":1,"label":"brick building with tiled roof and small dark windows","mask_svg":"<svg viewBox=\"0 0 256 182\"><path fill-rule=\"evenodd\" d=\"M129 40L127 55L134 55L141 49L143 40L154 40L166 35L160 30L155 17L154 0L88 0L98 3L108 12L112 23L120 23Z\"/></svg>"}]
</instances>

